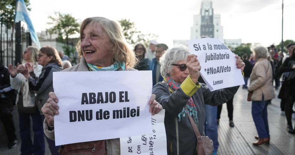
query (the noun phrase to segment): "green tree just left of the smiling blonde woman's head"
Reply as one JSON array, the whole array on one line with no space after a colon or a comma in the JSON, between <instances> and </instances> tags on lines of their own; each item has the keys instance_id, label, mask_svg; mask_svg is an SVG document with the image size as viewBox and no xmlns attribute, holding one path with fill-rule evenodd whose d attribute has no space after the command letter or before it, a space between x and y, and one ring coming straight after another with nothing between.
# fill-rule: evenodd
<instances>
[{"instance_id":1,"label":"green tree just left of the smiling blonde woman's head","mask_svg":"<svg viewBox=\"0 0 295 155\"><path fill-rule=\"evenodd\" d=\"M55 16L48 16L51 20L47 24L52 25L47 32L50 34L58 34L57 41L64 44L64 53L68 56L75 54L75 48L69 45L69 37L71 35L79 33L79 26L77 19L72 17L71 14L62 14L60 12L55 12Z\"/></svg>"}]
</instances>

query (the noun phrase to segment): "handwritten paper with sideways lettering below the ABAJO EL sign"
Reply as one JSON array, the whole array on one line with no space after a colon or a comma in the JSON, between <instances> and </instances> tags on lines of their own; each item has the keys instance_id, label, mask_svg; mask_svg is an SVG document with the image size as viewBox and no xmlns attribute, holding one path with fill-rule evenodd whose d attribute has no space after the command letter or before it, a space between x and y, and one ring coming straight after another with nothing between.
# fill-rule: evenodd
<instances>
[{"instance_id":1,"label":"handwritten paper with sideways lettering below the ABAJO EL sign","mask_svg":"<svg viewBox=\"0 0 295 155\"><path fill-rule=\"evenodd\" d=\"M134 137L120 138L121 155L165 155L167 141L164 126L165 109L152 115L153 133Z\"/></svg>"}]
</instances>

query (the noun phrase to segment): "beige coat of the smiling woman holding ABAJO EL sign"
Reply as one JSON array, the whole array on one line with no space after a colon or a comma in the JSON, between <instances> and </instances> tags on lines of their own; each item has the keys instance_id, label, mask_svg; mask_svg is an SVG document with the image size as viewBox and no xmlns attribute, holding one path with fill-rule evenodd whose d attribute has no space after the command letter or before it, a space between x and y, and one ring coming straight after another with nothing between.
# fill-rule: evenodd
<instances>
[{"instance_id":1,"label":"beige coat of the smiling woman holding ABAJO EL sign","mask_svg":"<svg viewBox=\"0 0 295 155\"><path fill-rule=\"evenodd\" d=\"M82 57L80 59L80 63L77 65L67 68L63 71L89 71L88 66L86 65L85 59ZM122 71L122 68L119 68L118 71ZM133 68L126 68L125 71L136 71ZM49 138L54 140L54 129L53 130L48 130L48 125L46 119L43 122L43 128L44 128L44 133L45 135ZM120 154L120 139L115 138L115 139L107 139L106 140L106 149L108 151L108 155L119 155Z\"/></svg>"}]
</instances>

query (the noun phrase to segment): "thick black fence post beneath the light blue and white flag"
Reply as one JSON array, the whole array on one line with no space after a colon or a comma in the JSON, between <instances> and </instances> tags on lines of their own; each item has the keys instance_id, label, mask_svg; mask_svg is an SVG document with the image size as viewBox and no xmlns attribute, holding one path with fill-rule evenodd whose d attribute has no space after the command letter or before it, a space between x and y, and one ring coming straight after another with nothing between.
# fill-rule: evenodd
<instances>
[{"instance_id":1,"label":"thick black fence post beneath the light blue and white flag","mask_svg":"<svg viewBox=\"0 0 295 155\"><path fill-rule=\"evenodd\" d=\"M21 54L22 54L22 33L20 22L15 23L15 64L21 64Z\"/></svg>"}]
</instances>

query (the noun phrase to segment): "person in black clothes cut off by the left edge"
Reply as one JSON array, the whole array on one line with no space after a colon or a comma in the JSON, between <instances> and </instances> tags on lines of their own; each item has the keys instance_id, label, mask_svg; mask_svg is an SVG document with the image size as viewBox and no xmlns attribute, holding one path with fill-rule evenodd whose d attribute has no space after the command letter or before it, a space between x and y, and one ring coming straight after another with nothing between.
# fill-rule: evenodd
<instances>
[{"instance_id":1,"label":"person in black clothes cut off by the left edge","mask_svg":"<svg viewBox=\"0 0 295 155\"><path fill-rule=\"evenodd\" d=\"M9 72L6 67L0 64L0 120L3 122L5 128L9 149L17 145L17 137L12 118L15 100L16 94L10 86Z\"/></svg>"}]
</instances>

